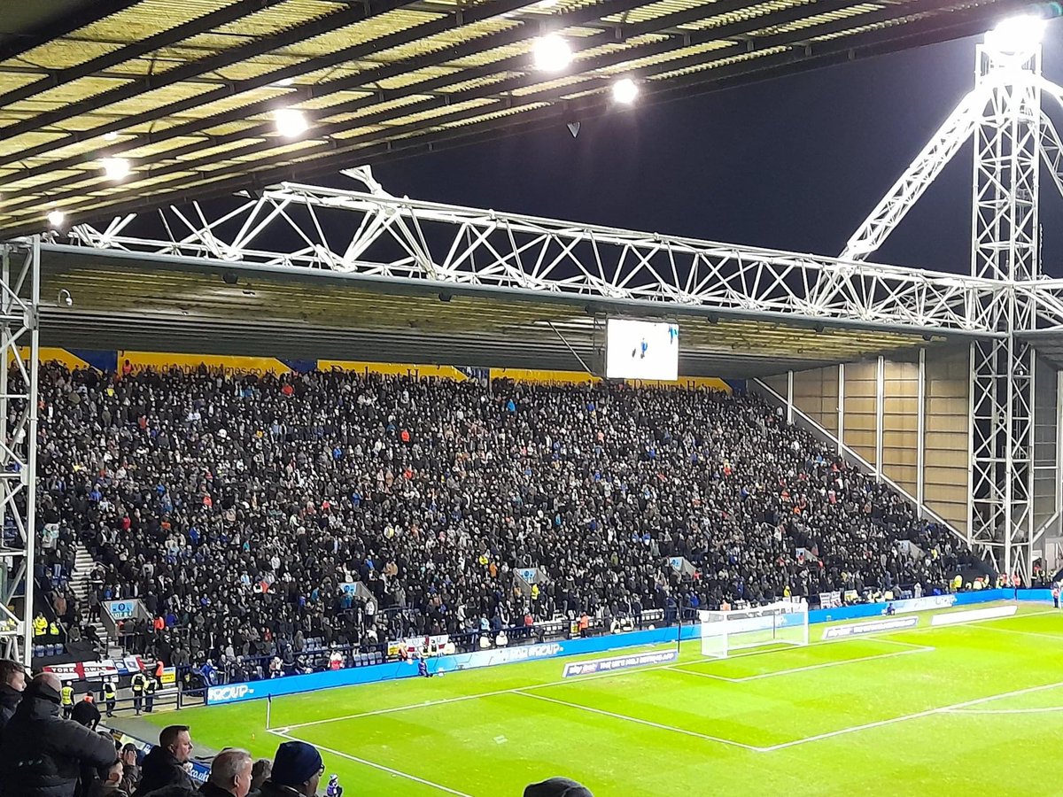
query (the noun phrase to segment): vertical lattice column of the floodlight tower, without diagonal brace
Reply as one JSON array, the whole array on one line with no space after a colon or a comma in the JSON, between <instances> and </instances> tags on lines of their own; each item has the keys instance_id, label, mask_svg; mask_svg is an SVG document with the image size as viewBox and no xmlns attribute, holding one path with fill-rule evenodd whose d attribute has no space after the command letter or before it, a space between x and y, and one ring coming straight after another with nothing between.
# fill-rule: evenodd
<instances>
[{"instance_id":1,"label":"vertical lattice column of the floodlight tower, without diagonal brace","mask_svg":"<svg viewBox=\"0 0 1063 797\"><path fill-rule=\"evenodd\" d=\"M978 48L976 83L990 99L975 129L973 276L1012 286L979 307L1005 337L974 349L971 419L975 544L997 567L1030 582L1033 540L1033 359L1016 332L1035 327L1035 306L1014 284L1040 271L1041 47Z\"/></svg>"}]
</instances>

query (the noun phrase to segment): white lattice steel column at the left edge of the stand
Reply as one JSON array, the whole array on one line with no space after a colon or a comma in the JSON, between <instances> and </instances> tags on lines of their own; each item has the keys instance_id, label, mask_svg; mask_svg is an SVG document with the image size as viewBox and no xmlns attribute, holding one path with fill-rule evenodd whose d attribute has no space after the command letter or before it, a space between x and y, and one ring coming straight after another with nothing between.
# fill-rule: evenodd
<instances>
[{"instance_id":1,"label":"white lattice steel column at the left edge of the stand","mask_svg":"<svg viewBox=\"0 0 1063 797\"><path fill-rule=\"evenodd\" d=\"M36 542L39 242L0 245L0 658L30 665Z\"/></svg>"}]
</instances>

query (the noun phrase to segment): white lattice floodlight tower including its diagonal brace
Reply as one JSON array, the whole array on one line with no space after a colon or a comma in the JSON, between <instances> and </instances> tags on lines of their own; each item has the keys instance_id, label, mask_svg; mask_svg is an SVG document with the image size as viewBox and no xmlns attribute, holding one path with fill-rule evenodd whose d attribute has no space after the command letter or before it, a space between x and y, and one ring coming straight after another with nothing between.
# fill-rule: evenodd
<instances>
[{"instance_id":1,"label":"white lattice floodlight tower including its diagonal brace","mask_svg":"<svg viewBox=\"0 0 1063 797\"><path fill-rule=\"evenodd\" d=\"M1033 386L1036 356L1024 333L1060 328L1060 281L1041 270L1041 166L1063 192L1063 145L1042 106L1063 89L1041 74L1041 46L977 51L975 88L960 102L849 240L861 259L881 245L945 164L973 137L971 273L1006 291L976 299L968 319L998 333L971 344L971 482L967 539L997 569L1029 582L1034 549L1049 524L1033 513ZM1059 503L1059 502L1057 502ZM1056 513L1063 507L1057 506Z\"/></svg>"}]
</instances>

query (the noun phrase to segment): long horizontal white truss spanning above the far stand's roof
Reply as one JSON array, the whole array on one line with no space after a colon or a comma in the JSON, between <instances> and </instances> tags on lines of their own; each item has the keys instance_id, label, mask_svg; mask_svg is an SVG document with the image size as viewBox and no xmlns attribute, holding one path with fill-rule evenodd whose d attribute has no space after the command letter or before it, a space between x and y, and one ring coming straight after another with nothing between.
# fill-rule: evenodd
<instances>
[{"instance_id":1,"label":"long horizontal white truss spanning above the far stand's roof","mask_svg":"<svg viewBox=\"0 0 1063 797\"><path fill-rule=\"evenodd\" d=\"M926 332L990 333L971 321L968 308L1003 300L990 279L399 199L365 170L349 174L370 190L285 183L213 217L196 203L164 208L151 220L152 237L131 234L138 219L125 216L103 230L80 224L70 239L156 255ZM271 249L259 248L264 240ZM283 241L291 245L281 249Z\"/></svg>"}]
</instances>

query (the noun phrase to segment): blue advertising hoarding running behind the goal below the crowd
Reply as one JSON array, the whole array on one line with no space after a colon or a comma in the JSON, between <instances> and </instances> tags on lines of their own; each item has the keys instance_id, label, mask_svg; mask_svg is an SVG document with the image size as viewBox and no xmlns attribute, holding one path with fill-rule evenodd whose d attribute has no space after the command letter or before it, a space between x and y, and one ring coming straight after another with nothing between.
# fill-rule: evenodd
<instances>
[{"instance_id":1,"label":"blue advertising hoarding running behind the goal below the crowd","mask_svg":"<svg viewBox=\"0 0 1063 797\"><path fill-rule=\"evenodd\" d=\"M981 590L951 595L927 595L921 598L894 600L892 603L894 610L904 614L913 611L982 604L990 600L1008 600L1013 596L1013 590ZM1018 597L1020 600L1043 601L1050 600L1051 593L1048 590L1019 590ZM808 622L810 624L832 623L844 620L881 616L885 607L887 604L861 604L859 606L844 606L837 609L816 609L808 613ZM682 626L678 632L682 640L692 640L699 637L698 626L696 625ZM468 654L456 654L454 656L439 656L429 659L427 664L429 672L433 674L454 673L463 669L497 666L500 664L514 664L522 661L554 659L564 656L585 656L606 650L659 645L661 643L675 642L676 633L677 630L673 626L670 628L654 628L644 631L629 631L627 633L615 633L588 639L557 640L555 642L476 650ZM310 675L286 676L284 678L251 681L249 683L210 686L207 690L207 703L219 706L231 702L243 702L300 692L316 692L335 686L351 686L359 683L377 683L379 681L391 681L401 678L414 678L417 675L417 663L410 661L389 662L387 664L336 669Z\"/></svg>"}]
</instances>

